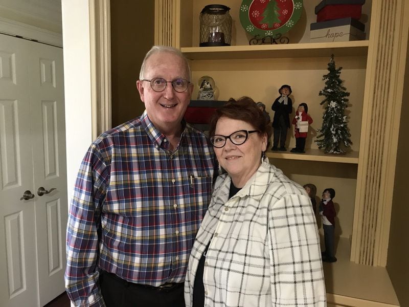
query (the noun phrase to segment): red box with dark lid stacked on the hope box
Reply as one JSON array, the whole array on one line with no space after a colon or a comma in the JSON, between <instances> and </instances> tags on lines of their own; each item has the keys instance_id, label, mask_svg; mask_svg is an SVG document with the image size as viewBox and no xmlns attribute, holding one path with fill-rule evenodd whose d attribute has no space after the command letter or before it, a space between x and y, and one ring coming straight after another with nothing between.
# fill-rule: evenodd
<instances>
[{"instance_id":1,"label":"red box with dark lid stacked on the hope box","mask_svg":"<svg viewBox=\"0 0 409 307\"><path fill-rule=\"evenodd\" d=\"M315 7L316 21L351 17L359 20L365 0L323 0Z\"/></svg>"}]
</instances>

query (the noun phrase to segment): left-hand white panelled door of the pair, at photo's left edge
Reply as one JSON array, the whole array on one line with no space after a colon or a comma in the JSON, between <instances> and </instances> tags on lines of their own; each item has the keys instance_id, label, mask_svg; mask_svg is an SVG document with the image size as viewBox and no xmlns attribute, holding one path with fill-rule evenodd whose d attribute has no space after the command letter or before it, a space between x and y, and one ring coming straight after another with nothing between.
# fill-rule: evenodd
<instances>
[{"instance_id":1,"label":"left-hand white panelled door of the pair, at photo's left edge","mask_svg":"<svg viewBox=\"0 0 409 307\"><path fill-rule=\"evenodd\" d=\"M5 306L37 304L35 197L31 149L28 50L0 36L0 298Z\"/></svg>"}]
</instances>

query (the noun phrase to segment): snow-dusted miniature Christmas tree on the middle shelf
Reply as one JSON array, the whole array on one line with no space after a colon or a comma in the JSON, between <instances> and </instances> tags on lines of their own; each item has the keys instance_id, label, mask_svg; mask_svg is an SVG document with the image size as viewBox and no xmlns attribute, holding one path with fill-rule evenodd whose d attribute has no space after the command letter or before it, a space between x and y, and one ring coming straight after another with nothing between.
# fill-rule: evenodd
<instances>
[{"instance_id":1,"label":"snow-dusted miniature Christmas tree on the middle shelf","mask_svg":"<svg viewBox=\"0 0 409 307\"><path fill-rule=\"evenodd\" d=\"M318 129L319 135L315 143L320 149L324 149L325 153L334 155L343 155L346 151L342 148L350 147L350 140L347 125L347 116L345 108L348 106L349 93L346 87L343 86L343 81L339 78L342 67L335 68L334 55L331 55L331 60L328 63L329 73L323 76L325 87L320 91L320 96L325 96L325 99L320 104L325 104L325 113L323 116L323 125Z\"/></svg>"}]
</instances>

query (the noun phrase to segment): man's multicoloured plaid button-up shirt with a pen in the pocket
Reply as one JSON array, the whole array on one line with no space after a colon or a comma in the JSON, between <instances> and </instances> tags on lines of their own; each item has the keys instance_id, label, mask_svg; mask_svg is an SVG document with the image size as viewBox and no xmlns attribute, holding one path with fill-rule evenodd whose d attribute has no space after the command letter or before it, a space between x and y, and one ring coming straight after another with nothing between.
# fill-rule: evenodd
<instances>
[{"instance_id":1,"label":"man's multicoloured plaid button-up shirt with a pen in the pocket","mask_svg":"<svg viewBox=\"0 0 409 307\"><path fill-rule=\"evenodd\" d=\"M101 269L155 287L185 280L215 158L207 137L184 125L174 151L146 112L89 147L67 226L65 286L76 304L104 305Z\"/></svg>"}]
</instances>

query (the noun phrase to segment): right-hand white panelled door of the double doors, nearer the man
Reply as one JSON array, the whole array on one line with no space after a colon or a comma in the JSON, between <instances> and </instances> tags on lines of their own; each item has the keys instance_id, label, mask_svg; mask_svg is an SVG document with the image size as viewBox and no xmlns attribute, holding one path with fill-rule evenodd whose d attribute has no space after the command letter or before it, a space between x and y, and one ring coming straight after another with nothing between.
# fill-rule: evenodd
<instances>
[{"instance_id":1,"label":"right-hand white panelled door of the double doors, nearer the man","mask_svg":"<svg viewBox=\"0 0 409 307\"><path fill-rule=\"evenodd\" d=\"M65 291L67 221L62 49L33 43L29 58L40 305ZM35 120L34 120L35 119Z\"/></svg>"}]
</instances>

